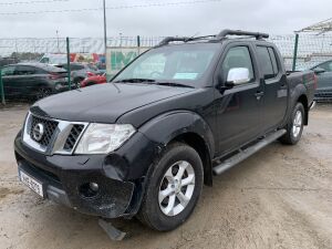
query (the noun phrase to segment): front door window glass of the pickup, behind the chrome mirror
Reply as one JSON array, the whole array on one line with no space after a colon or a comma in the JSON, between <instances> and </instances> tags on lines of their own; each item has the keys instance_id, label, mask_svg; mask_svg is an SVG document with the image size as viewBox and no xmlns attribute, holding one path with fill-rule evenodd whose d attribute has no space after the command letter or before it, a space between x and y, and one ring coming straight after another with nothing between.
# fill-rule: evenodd
<instances>
[{"instance_id":1,"label":"front door window glass of the pickup, behind the chrome mirror","mask_svg":"<svg viewBox=\"0 0 332 249\"><path fill-rule=\"evenodd\" d=\"M222 62L222 79L227 79L228 72L235 68L246 68L249 70L250 82L255 79L253 66L248 46L231 48Z\"/></svg>"}]
</instances>

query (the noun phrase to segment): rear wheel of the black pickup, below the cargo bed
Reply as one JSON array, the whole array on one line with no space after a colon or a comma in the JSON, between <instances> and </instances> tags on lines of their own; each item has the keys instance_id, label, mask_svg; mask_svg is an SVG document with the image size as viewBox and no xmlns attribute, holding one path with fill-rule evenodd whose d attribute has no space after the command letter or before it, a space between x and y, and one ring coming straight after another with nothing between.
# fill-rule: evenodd
<instances>
[{"instance_id":1,"label":"rear wheel of the black pickup, below the cargo bed","mask_svg":"<svg viewBox=\"0 0 332 249\"><path fill-rule=\"evenodd\" d=\"M301 139L303 124L304 107L302 103L297 103L284 127L287 133L280 138L280 142L282 144L295 145Z\"/></svg>"}]
</instances>

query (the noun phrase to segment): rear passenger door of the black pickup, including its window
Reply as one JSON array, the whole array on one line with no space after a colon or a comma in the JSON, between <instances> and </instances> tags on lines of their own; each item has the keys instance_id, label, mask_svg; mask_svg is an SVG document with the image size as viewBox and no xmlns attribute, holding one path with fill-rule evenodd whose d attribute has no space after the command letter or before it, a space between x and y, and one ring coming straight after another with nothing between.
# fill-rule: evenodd
<instances>
[{"instance_id":1,"label":"rear passenger door of the black pickup, including its window","mask_svg":"<svg viewBox=\"0 0 332 249\"><path fill-rule=\"evenodd\" d=\"M257 45L256 56L260 65L260 81L263 84L262 128L276 128L287 112L288 85L279 55L273 46Z\"/></svg>"}]
</instances>

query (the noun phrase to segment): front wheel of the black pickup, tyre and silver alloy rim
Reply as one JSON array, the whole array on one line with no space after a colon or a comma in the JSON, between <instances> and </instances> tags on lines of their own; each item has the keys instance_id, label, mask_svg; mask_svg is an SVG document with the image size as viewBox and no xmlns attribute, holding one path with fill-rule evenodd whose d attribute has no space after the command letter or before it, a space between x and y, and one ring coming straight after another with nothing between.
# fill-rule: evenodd
<instances>
[{"instance_id":1,"label":"front wheel of the black pickup, tyre and silver alloy rim","mask_svg":"<svg viewBox=\"0 0 332 249\"><path fill-rule=\"evenodd\" d=\"M137 218L155 230L173 230L188 219L199 199L203 163L193 147L174 143L153 167ZM181 177L180 172L184 172Z\"/></svg>"}]
</instances>

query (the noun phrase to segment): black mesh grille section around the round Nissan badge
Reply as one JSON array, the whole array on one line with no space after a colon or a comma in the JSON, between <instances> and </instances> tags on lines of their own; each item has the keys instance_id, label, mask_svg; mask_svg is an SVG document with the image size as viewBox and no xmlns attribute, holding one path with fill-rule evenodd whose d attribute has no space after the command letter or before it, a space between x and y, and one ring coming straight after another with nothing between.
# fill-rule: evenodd
<instances>
[{"instance_id":1,"label":"black mesh grille section around the round Nissan badge","mask_svg":"<svg viewBox=\"0 0 332 249\"><path fill-rule=\"evenodd\" d=\"M35 127L37 124L42 124L44 126L44 134L42 135L42 138L40 141L37 141L33 136L33 128ZM41 144L44 147L48 147L58 127L58 124L59 123L56 121L41 118L32 115L31 125L28 131L28 134L30 135L31 139L33 139L34 142Z\"/></svg>"}]
</instances>

